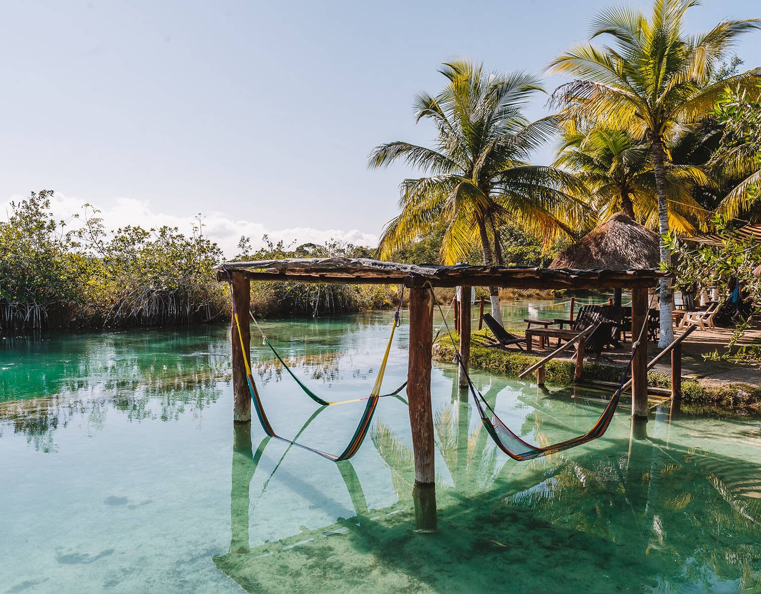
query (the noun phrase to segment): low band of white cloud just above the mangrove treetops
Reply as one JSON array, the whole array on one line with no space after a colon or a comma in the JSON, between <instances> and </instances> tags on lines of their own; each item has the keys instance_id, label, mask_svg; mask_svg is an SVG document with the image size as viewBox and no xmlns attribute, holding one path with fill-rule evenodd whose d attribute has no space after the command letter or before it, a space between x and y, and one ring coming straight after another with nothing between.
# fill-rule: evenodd
<instances>
[{"instance_id":1,"label":"low band of white cloud just above the mangrove treetops","mask_svg":"<svg viewBox=\"0 0 761 594\"><path fill-rule=\"evenodd\" d=\"M0 213L9 210L11 200L18 201L23 197L14 195L8 202L0 204ZM84 200L72 198L59 192L56 192L51 207L53 216L56 219L62 219L67 224L75 226L77 221L74 215L83 212ZM100 208L98 205L94 205ZM103 224L108 230L124 227L125 225L141 225L142 227L160 227L169 225L178 227L185 233L193 230L196 224L196 218L191 216L178 217L175 214L165 214L154 212L148 202L141 202L132 198L116 199L116 204L110 208L101 208L102 212L98 215L103 218ZM342 240L348 243L354 243L359 246L374 247L377 246L378 238L372 233L363 233L358 229L349 231L341 229L314 229L311 227L292 227L288 229L270 229L260 223L251 221L238 220L229 218L222 212L212 212L204 214L203 232L212 241L219 244L225 256L231 257L237 253L237 243L241 235L251 238L254 248L262 245L262 236L266 233L269 239L277 243L279 240L288 245L292 241L296 244L301 243L323 243L327 240Z\"/></svg>"}]
</instances>

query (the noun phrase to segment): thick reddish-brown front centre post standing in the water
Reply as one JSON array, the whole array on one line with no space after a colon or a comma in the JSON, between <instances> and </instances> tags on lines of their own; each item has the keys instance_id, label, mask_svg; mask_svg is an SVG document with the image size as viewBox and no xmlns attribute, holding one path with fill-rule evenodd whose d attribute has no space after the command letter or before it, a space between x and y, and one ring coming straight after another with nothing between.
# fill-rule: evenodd
<instances>
[{"instance_id":1,"label":"thick reddish-brown front centre post standing in the water","mask_svg":"<svg viewBox=\"0 0 761 594\"><path fill-rule=\"evenodd\" d=\"M428 288L409 291L409 368L407 397L412 452L415 455L415 523L419 532L436 531L436 472L434 467L433 412L431 411L431 343L433 296Z\"/></svg>"}]
</instances>

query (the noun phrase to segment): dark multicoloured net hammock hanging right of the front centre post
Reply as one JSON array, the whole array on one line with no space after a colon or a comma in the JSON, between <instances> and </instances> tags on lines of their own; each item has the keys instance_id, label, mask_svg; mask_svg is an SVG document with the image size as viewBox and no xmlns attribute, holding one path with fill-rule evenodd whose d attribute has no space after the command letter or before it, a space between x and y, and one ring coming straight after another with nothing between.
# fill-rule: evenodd
<instances>
[{"instance_id":1,"label":"dark multicoloured net hammock hanging right of the front centre post","mask_svg":"<svg viewBox=\"0 0 761 594\"><path fill-rule=\"evenodd\" d=\"M428 287L431 289L431 296L433 297L434 303L436 303L436 307L438 307L438 310L441 312L441 306L436 301L433 287L430 283L428 283ZM596 440L598 437L602 437L605 434L607 428L610 426L610 421L613 420L613 415L616 412L616 408L618 407L621 393L623 392L623 386L626 383L630 370L632 369L632 361L634 360L634 356L638 351L640 341L642 340L643 335L645 335L645 329L648 327L648 320L645 319L645 322L642 324L642 329L640 329L637 341L632 344L632 355L629 357L629 362L626 364L626 369L622 373L619 387L616 389L616 392L613 392L613 396L611 397L610 402L608 402L605 410L603 410L603 414L600 415L600 418L594 424L594 427L592 427L591 430L589 430L584 435L572 437L569 440L553 443L552 445L546 447L534 446L531 443L527 443L526 441L522 440L521 437L518 437L517 434L510 430L510 428L501 421L492 406L489 405L489 402L487 402L486 398L483 397L481 392L476 389L476 386L473 385L473 381L470 380L470 375L468 375L468 372L465 369L465 364L463 363L462 357L460 357L460 351L454 341L454 337L452 336L452 332L449 329L449 325L447 324L446 326L449 338L452 341L452 346L454 347L454 356L457 359L460 370L462 370L462 372L465 374L470 393L473 395L473 401L476 402L476 409L478 410L481 421L486 428L486 432L490 437L492 437L492 440L498 446L498 448L502 450L502 452L506 453L508 456L514 460L517 460L518 462L524 462L526 460L539 458L540 456L549 456L549 454L561 452L564 449L581 446L584 443L589 443L590 441ZM486 408L484 405L486 405ZM492 415L491 419L489 419L489 415L487 415L487 409Z\"/></svg>"}]
</instances>

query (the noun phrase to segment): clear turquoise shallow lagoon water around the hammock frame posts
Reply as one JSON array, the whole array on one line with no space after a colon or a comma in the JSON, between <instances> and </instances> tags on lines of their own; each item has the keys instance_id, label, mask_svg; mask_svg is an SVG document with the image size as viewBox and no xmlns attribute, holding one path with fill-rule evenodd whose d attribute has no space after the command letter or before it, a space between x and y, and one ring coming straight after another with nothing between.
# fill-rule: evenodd
<instances>
[{"instance_id":1,"label":"clear turquoise shallow lagoon water around the hammock frame posts","mask_svg":"<svg viewBox=\"0 0 761 594\"><path fill-rule=\"evenodd\" d=\"M390 313L265 326L333 400L367 394L389 329ZM406 379L400 330L388 390ZM517 463L437 366L439 531L418 535L399 399L336 465L233 426L226 328L0 343L0 592L761 591L758 418L654 408L632 436L620 408L603 439ZM296 434L317 406L260 342L252 357L270 421ZM604 406L474 380L539 443ZM339 451L362 407L326 408L301 440Z\"/></svg>"}]
</instances>

